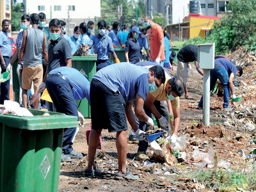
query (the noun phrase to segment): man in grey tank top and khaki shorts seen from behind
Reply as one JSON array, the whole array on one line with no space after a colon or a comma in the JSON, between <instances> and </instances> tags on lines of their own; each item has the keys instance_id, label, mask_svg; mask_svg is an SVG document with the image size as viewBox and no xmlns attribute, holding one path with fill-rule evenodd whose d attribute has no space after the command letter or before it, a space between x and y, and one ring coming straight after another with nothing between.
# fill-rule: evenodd
<instances>
[{"instance_id":1,"label":"man in grey tank top and khaki shorts seen from behind","mask_svg":"<svg viewBox=\"0 0 256 192\"><path fill-rule=\"evenodd\" d=\"M24 108L27 108L27 91L31 88L33 81L34 91L42 83L44 69L42 66L42 53L44 54L45 62L48 63L47 52L47 38L45 33L38 29L40 17L38 14L33 13L30 15L32 28L23 32L22 46L19 54L18 65L20 65L24 56L24 63L22 68L22 101ZM38 100L34 104L34 109L37 109Z\"/></svg>"}]
</instances>

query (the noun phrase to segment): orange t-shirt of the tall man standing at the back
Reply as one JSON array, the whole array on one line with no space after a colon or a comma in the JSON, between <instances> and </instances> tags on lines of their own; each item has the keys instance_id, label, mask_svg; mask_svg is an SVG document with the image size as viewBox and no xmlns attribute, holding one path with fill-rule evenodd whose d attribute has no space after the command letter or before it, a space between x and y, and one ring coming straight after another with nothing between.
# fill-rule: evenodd
<instances>
[{"instance_id":1,"label":"orange t-shirt of the tall man standing at the back","mask_svg":"<svg viewBox=\"0 0 256 192\"><path fill-rule=\"evenodd\" d=\"M156 58L160 49L159 40L161 40L161 38L164 38L164 31L158 24L156 24L156 26L153 29L150 28L148 30L148 40L149 40L150 54L151 54L150 60L156 61ZM164 50L161 54L160 60L161 61L165 60Z\"/></svg>"}]
</instances>

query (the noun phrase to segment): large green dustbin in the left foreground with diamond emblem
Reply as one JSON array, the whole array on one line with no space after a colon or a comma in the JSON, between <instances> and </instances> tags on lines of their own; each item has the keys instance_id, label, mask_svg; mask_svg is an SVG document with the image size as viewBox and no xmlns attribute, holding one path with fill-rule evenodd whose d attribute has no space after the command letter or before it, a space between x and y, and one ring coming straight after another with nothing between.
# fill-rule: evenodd
<instances>
[{"instance_id":1,"label":"large green dustbin in the left foreground with diamond emblem","mask_svg":"<svg viewBox=\"0 0 256 192\"><path fill-rule=\"evenodd\" d=\"M35 116L0 115L0 191L58 191L63 128L77 117L29 109Z\"/></svg>"}]
</instances>

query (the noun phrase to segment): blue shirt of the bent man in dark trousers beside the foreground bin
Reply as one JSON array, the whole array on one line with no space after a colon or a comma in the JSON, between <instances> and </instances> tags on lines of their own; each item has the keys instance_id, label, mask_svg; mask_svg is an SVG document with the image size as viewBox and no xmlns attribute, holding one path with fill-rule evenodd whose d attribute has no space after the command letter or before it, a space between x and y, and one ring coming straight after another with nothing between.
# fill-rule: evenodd
<instances>
[{"instance_id":1,"label":"blue shirt of the bent man in dark trousers beside the foreground bin","mask_svg":"<svg viewBox=\"0 0 256 192\"><path fill-rule=\"evenodd\" d=\"M74 95L75 100L86 99L90 103L90 81L86 79L86 77L79 72L76 68L71 67L59 67L54 68L49 72L49 74L55 74L56 72L63 75L68 79L70 85L72 86L72 93Z\"/></svg>"}]
</instances>

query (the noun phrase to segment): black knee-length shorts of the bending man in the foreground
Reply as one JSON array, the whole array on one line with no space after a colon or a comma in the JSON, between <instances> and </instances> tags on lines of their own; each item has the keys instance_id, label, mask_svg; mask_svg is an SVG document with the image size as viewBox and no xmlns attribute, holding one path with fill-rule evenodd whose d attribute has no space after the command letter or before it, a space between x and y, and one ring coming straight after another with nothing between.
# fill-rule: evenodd
<instances>
[{"instance_id":1,"label":"black knee-length shorts of the bending man in the foreground","mask_svg":"<svg viewBox=\"0 0 256 192\"><path fill-rule=\"evenodd\" d=\"M98 79L90 86L92 129L108 129L109 132L127 130L125 100Z\"/></svg>"}]
</instances>

